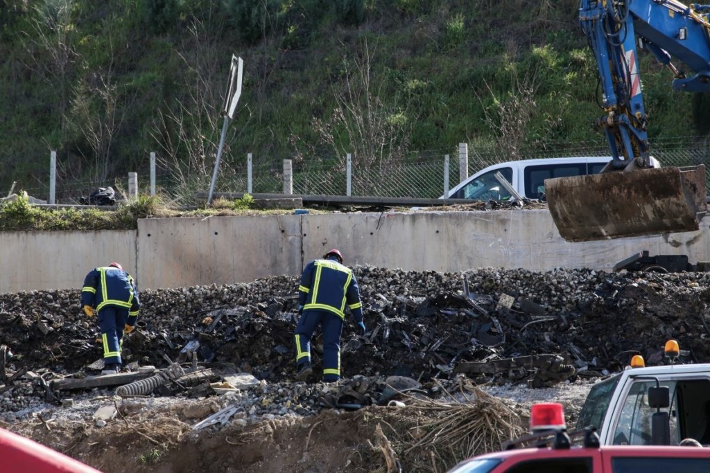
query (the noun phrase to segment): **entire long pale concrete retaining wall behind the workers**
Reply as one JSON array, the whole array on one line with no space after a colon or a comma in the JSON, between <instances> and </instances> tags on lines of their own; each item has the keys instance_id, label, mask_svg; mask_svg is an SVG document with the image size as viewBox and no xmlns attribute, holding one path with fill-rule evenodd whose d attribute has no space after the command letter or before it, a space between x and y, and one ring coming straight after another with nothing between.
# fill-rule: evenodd
<instances>
[{"instance_id":1,"label":"entire long pale concrete retaining wall behind the workers","mask_svg":"<svg viewBox=\"0 0 710 473\"><path fill-rule=\"evenodd\" d=\"M641 250L710 261L709 224L697 232L586 243L564 241L546 210L151 218L137 231L4 232L0 293L78 288L89 269L111 261L121 262L140 288L251 282L300 274L332 247L347 265L608 271Z\"/></svg>"}]
</instances>

